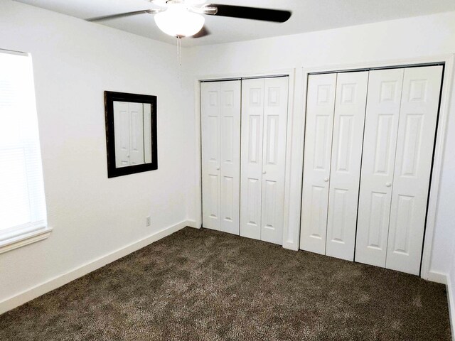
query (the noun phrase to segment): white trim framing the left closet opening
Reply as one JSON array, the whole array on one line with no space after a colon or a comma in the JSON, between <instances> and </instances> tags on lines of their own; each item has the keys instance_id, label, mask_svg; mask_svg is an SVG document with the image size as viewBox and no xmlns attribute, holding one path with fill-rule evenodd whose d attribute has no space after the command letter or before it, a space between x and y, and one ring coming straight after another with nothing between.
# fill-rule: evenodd
<instances>
[{"instance_id":1,"label":"white trim framing the left closet opening","mask_svg":"<svg viewBox=\"0 0 455 341\"><path fill-rule=\"evenodd\" d=\"M289 95L288 95L288 119L287 119L287 137L286 137L286 168L284 178L284 223L283 223L283 247L287 249L299 249L299 232L296 238L289 238L289 201L291 197L291 142L292 142L292 125L295 114L299 114L299 108L294 107L294 85L296 69L269 70L260 72L242 72L219 75L198 75L194 80L194 117L195 117L195 134L196 134L196 226L202 225L202 182L201 182L201 162L202 153L200 145L200 82L202 81L223 81L235 80L240 78L256 77L289 77Z\"/></svg>"}]
</instances>

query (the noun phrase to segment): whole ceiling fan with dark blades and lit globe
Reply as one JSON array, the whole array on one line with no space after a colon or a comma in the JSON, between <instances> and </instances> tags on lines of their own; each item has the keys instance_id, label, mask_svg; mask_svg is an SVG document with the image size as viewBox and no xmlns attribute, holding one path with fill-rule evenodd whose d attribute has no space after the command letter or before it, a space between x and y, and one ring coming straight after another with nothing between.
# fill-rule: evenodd
<instances>
[{"instance_id":1,"label":"whole ceiling fan with dark blades and lit globe","mask_svg":"<svg viewBox=\"0 0 455 341\"><path fill-rule=\"evenodd\" d=\"M208 30L203 28L205 18L201 14L272 21L276 23L284 23L284 21L287 21L291 17L290 11L225 4L204 4L204 0L149 1L156 5L156 8L109 16L98 16L96 18L88 18L87 21L105 21L144 13L154 14L156 26L169 36L177 38L201 38L210 34Z\"/></svg>"}]
</instances>

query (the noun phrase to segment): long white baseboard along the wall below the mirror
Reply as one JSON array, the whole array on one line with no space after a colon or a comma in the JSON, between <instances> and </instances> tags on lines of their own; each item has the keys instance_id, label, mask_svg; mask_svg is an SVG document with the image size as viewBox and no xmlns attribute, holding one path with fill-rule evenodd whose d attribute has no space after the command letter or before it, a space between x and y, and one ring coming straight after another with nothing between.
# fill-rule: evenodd
<instances>
[{"instance_id":1,"label":"long white baseboard along the wall below the mirror","mask_svg":"<svg viewBox=\"0 0 455 341\"><path fill-rule=\"evenodd\" d=\"M186 226L191 226L191 221L183 220L183 222L179 222L178 224L165 227L164 229L156 231L144 239L140 239L137 242L127 245L126 247L117 249L110 254L106 254L105 256L95 259L94 261L90 261L90 263L79 266L65 274L50 278L48 281L38 284L38 286L34 286L33 288L23 291L22 293L18 293L16 296L6 298L6 300L0 302L0 314L16 308L23 303L27 303L28 301L48 293L49 291L53 291L60 286L64 286L66 283L70 283L70 281L74 281L75 279L89 274L92 271L100 269L102 266L127 256L127 254L131 254L134 251L142 249L143 247L146 247L161 238L167 237L169 234L173 234Z\"/></svg>"}]
</instances>

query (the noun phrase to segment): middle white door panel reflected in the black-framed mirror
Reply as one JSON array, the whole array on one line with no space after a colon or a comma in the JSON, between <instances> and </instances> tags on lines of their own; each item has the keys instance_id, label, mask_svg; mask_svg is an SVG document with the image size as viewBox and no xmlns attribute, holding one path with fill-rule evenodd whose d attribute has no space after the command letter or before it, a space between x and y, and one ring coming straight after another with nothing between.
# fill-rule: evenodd
<instances>
[{"instance_id":1,"label":"middle white door panel reflected in the black-framed mirror","mask_svg":"<svg viewBox=\"0 0 455 341\"><path fill-rule=\"evenodd\" d=\"M129 146L131 165L144 164L144 107L142 103L129 103Z\"/></svg>"}]
</instances>

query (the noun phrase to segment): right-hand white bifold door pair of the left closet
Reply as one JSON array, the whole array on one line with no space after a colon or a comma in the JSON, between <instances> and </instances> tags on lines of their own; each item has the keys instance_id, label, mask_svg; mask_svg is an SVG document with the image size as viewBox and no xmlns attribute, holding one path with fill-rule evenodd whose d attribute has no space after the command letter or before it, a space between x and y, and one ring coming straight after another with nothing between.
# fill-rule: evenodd
<instances>
[{"instance_id":1,"label":"right-hand white bifold door pair of the left closet","mask_svg":"<svg viewBox=\"0 0 455 341\"><path fill-rule=\"evenodd\" d=\"M242 80L240 235L282 244L289 77Z\"/></svg>"}]
</instances>

